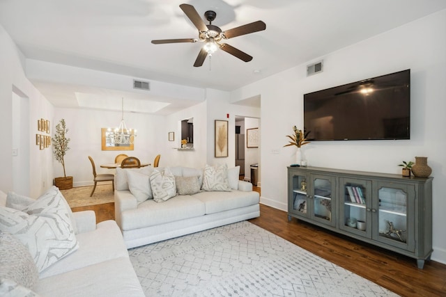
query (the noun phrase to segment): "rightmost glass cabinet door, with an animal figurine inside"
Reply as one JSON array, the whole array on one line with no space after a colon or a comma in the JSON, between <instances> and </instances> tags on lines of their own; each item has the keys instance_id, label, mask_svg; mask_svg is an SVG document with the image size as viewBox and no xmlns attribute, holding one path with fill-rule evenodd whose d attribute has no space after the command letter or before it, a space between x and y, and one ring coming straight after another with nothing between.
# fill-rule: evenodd
<instances>
[{"instance_id":1,"label":"rightmost glass cabinet door, with an animal figurine inside","mask_svg":"<svg viewBox=\"0 0 446 297\"><path fill-rule=\"evenodd\" d=\"M415 190L406 185L381 185L378 187L378 240L392 246L410 250L413 241L410 230L413 221L408 220L413 211ZM412 197L412 199L411 199Z\"/></svg>"}]
</instances>

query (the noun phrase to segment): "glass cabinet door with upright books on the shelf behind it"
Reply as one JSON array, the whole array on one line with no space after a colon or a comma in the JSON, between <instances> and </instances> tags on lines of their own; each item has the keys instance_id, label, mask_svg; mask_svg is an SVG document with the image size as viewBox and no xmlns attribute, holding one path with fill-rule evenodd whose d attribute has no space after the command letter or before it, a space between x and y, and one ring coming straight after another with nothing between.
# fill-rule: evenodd
<instances>
[{"instance_id":1,"label":"glass cabinet door with upright books on the shelf behind it","mask_svg":"<svg viewBox=\"0 0 446 297\"><path fill-rule=\"evenodd\" d=\"M339 228L371 237L371 182L364 179L340 179Z\"/></svg>"}]
</instances>

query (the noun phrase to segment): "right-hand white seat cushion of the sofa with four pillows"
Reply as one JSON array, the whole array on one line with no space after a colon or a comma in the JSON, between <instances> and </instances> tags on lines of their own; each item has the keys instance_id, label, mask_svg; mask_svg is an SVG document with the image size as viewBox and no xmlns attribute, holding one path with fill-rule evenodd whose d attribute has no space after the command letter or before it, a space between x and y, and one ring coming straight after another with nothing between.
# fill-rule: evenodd
<instances>
[{"instance_id":1,"label":"right-hand white seat cushion of the sofa with four pillows","mask_svg":"<svg viewBox=\"0 0 446 297\"><path fill-rule=\"evenodd\" d=\"M259 204L259 193L257 192L201 192L195 194L194 198L205 204L206 214Z\"/></svg>"}]
</instances>

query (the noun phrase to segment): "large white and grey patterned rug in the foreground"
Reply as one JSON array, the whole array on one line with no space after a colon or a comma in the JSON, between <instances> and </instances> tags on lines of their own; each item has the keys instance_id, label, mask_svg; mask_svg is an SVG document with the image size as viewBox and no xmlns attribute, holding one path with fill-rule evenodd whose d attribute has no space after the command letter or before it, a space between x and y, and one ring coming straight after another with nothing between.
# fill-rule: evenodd
<instances>
[{"instance_id":1,"label":"large white and grey patterned rug in the foreground","mask_svg":"<svg viewBox=\"0 0 446 297\"><path fill-rule=\"evenodd\" d=\"M129 254L146 296L397 296L247 221Z\"/></svg>"}]
</instances>

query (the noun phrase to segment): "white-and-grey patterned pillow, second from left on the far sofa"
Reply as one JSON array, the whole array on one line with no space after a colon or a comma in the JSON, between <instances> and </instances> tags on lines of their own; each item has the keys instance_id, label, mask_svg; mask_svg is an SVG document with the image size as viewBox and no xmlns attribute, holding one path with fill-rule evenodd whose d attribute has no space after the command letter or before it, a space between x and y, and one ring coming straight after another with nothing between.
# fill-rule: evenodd
<instances>
[{"instance_id":1,"label":"white-and-grey patterned pillow, second from left on the far sofa","mask_svg":"<svg viewBox=\"0 0 446 297\"><path fill-rule=\"evenodd\" d=\"M153 170L150 180L153 200L156 202L164 202L176 196L175 176L169 168L165 168L164 172Z\"/></svg>"}]
</instances>

